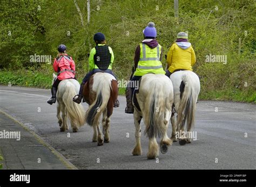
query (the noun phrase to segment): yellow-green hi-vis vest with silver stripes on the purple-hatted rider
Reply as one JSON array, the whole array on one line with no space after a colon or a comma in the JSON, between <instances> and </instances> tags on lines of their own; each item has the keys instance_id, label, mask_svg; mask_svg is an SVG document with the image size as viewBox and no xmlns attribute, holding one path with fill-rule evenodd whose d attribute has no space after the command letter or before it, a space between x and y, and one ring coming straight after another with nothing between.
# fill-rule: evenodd
<instances>
[{"instance_id":1,"label":"yellow-green hi-vis vest with silver stripes on the purple-hatted rider","mask_svg":"<svg viewBox=\"0 0 256 187\"><path fill-rule=\"evenodd\" d=\"M140 43L140 59L134 73L135 76L143 76L147 73L165 74L160 61L161 46L151 49L146 44Z\"/></svg>"}]
</instances>

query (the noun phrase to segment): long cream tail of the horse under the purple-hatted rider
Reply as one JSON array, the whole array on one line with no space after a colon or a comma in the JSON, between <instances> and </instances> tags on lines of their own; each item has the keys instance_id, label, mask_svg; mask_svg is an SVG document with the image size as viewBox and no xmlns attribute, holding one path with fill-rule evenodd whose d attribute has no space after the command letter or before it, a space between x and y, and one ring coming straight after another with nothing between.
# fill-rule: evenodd
<instances>
[{"instance_id":1,"label":"long cream tail of the horse under the purple-hatted rider","mask_svg":"<svg viewBox=\"0 0 256 187\"><path fill-rule=\"evenodd\" d=\"M165 98L164 86L155 81L146 100L145 122L147 121L145 133L149 138L163 136L165 133ZM165 125L164 125L165 124Z\"/></svg>"}]
</instances>

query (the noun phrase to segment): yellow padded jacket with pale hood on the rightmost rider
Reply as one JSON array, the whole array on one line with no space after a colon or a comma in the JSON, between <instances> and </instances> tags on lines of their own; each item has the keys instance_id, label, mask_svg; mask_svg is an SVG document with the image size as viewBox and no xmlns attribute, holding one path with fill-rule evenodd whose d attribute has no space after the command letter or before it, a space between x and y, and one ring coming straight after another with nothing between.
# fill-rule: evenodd
<instances>
[{"instance_id":1,"label":"yellow padded jacket with pale hood on the rightmost rider","mask_svg":"<svg viewBox=\"0 0 256 187\"><path fill-rule=\"evenodd\" d=\"M196 54L190 42L175 42L167 53L166 61L171 73L176 69L192 71L192 66L196 63Z\"/></svg>"}]
</instances>

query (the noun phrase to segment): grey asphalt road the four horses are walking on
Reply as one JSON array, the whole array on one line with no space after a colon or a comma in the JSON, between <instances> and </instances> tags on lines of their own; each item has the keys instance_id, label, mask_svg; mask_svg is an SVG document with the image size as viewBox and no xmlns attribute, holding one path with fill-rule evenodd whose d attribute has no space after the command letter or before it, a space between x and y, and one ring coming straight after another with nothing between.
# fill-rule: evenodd
<instances>
[{"instance_id":1,"label":"grey asphalt road the four horses are walking on","mask_svg":"<svg viewBox=\"0 0 256 187\"><path fill-rule=\"evenodd\" d=\"M46 103L49 97L50 90L1 86L0 109L22 121L79 169L255 169L255 104L199 101L194 128L198 140L185 146L174 142L158 160L147 160L144 135L143 155L131 154L134 125L132 114L124 113L125 97L119 96L120 107L113 111L110 143L99 147L92 142L93 130L88 125L77 133L71 128L60 132L56 104Z\"/></svg>"}]
</instances>

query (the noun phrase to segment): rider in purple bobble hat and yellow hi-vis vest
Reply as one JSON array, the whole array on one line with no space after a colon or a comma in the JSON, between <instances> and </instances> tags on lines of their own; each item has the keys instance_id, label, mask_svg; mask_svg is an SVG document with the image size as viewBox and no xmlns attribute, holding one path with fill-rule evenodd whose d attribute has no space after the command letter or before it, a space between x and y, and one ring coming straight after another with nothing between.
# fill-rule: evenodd
<instances>
[{"instance_id":1,"label":"rider in purple bobble hat and yellow hi-vis vest","mask_svg":"<svg viewBox=\"0 0 256 187\"><path fill-rule=\"evenodd\" d=\"M162 67L161 58L163 48L157 42L157 30L154 23L150 22L143 30L144 40L137 46L134 56L135 72L131 77L129 84L125 90L126 93L126 108L125 113L133 113L132 94L135 89L134 85L139 82L139 79L147 74L165 74Z\"/></svg>"}]
</instances>

